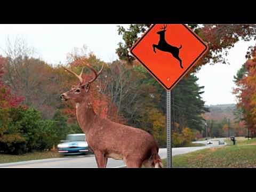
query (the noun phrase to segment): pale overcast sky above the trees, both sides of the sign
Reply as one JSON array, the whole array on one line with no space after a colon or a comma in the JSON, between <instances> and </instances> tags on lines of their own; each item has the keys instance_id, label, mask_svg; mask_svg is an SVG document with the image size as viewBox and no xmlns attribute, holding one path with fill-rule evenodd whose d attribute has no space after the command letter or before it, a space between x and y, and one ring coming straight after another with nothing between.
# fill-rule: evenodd
<instances>
[{"instance_id":1,"label":"pale overcast sky above the trees, both sides of the sign","mask_svg":"<svg viewBox=\"0 0 256 192\"><path fill-rule=\"evenodd\" d=\"M122 41L122 37L117 33L116 24L1 24L0 55L4 55L1 49L5 49L7 37L12 40L17 36L26 39L28 45L35 48L39 58L53 65L66 63L67 53L74 47L79 48L83 45L99 59L105 62L114 61L118 59L115 53L117 44ZM238 42L229 51L227 59L230 65L207 64L196 74L199 78L197 83L205 86L202 98L206 105L236 103L235 96L231 93L235 87L233 76L246 61L245 54L250 45L255 45L255 41Z\"/></svg>"}]
</instances>

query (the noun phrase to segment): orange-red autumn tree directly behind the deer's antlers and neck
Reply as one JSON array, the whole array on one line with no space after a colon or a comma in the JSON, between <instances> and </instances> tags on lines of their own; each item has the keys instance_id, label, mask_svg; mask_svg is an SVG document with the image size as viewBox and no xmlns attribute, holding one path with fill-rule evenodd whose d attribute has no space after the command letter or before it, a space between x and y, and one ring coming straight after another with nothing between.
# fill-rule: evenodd
<instances>
[{"instance_id":1,"label":"orange-red autumn tree directly behind the deer's antlers and neck","mask_svg":"<svg viewBox=\"0 0 256 192\"><path fill-rule=\"evenodd\" d=\"M100 70L102 65L105 65L101 75L95 82L93 82L93 86L90 88L89 97L91 98L95 113L101 117L109 118L112 121L121 122L122 118L118 115L118 109L115 103L113 103L113 99L111 99L109 94L106 94L106 87L108 86L108 83L111 82L110 78L112 78L111 76L108 76L108 64L99 60L93 53L87 54L86 46L83 46L82 49L75 48L70 52L68 54L68 61L68 67L71 67L77 74L84 68L84 73L82 75L84 81L89 81L94 76L92 71L86 67L87 63L90 63L90 65L97 71ZM77 84L77 79L74 78L73 75L67 73L67 71L63 70L60 66L58 66L58 68L58 70L66 76L66 80L63 79L62 82L62 89L66 89L63 90L63 92L66 92L70 89L69 87L71 85ZM72 102L62 103L60 108L64 114L69 116L71 122L74 123L76 121L75 108Z\"/></svg>"}]
</instances>

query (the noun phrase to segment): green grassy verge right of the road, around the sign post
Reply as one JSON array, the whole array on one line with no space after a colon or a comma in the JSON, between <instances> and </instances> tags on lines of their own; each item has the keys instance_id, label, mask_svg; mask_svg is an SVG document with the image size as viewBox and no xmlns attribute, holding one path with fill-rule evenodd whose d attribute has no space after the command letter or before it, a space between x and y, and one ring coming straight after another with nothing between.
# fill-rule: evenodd
<instances>
[{"instance_id":1,"label":"green grassy verge right of the road, around the sign post","mask_svg":"<svg viewBox=\"0 0 256 192\"><path fill-rule=\"evenodd\" d=\"M174 156L173 167L256 167L256 139Z\"/></svg>"}]
</instances>

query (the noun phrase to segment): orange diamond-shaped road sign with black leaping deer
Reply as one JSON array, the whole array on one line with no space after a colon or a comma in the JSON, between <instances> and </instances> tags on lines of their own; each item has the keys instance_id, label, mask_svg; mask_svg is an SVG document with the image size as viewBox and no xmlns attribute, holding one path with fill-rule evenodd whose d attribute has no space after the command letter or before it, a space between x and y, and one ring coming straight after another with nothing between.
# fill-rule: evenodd
<instances>
[{"instance_id":1,"label":"orange diamond-shaped road sign with black leaping deer","mask_svg":"<svg viewBox=\"0 0 256 192\"><path fill-rule=\"evenodd\" d=\"M171 90L208 47L188 26L154 24L131 53L166 90Z\"/></svg>"}]
</instances>

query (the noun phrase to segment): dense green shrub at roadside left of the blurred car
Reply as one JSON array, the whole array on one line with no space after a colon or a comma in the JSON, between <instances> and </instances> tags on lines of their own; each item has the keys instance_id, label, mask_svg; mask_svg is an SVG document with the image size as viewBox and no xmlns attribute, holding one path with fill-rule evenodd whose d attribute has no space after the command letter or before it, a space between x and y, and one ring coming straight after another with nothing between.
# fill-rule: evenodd
<instances>
[{"instance_id":1,"label":"dense green shrub at roadside left of the blurred car","mask_svg":"<svg viewBox=\"0 0 256 192\"><path fill-rule=\"evenodd\" d=\"M20 106L7 110L7 116L7 126L0 137L0 153L50 150L69 132L67 119L58 111L54 119L45 120L37 110Z\"/></svg>"}]
</instances>

